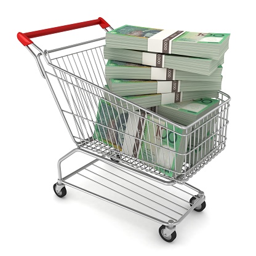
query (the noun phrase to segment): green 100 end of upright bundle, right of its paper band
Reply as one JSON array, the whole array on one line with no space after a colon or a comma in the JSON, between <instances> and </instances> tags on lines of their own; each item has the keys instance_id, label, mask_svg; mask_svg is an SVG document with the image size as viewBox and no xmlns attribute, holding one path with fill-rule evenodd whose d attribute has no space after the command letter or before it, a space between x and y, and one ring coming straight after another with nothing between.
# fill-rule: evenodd
<instances>
[{"instance_id":1,"label":"green 100 end of upright bundle, right of its paper band","mask_svg":"<svg viewBox=\"0 0 256 256\"><path fill-rule=\"evenodd\" d=\"M140 147L138 158L153 164L154 169L174 177L173 171L182 172L186 150L186 137L183 130L170 123L153 120L148 116L144 127L144 141ZM181 154L177 154L181 153ZM150 165L151 166L151 165Z\"/></svg>"}]
</instances>

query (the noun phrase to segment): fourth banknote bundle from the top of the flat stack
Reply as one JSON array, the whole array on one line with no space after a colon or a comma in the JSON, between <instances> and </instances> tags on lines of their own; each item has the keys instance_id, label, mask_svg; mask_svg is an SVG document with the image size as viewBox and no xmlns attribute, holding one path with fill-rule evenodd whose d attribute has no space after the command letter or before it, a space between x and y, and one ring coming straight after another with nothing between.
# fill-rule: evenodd
<instances>
[{"instance_id":1,"label":"fourth banknote bundle from the top of the flat stack","mask_svg":"<svg viewBox=\"0 0 256 256\"><path fill-rule=\"evenodd\" d=\"M204 81L153 81L136 79L107 79L111 92L119 96L142 94L166 94L170 92L194 92L199 90L220 90L221 82ZM199 95L198 95L199 97Z\"/></svg>"}]
</instances>

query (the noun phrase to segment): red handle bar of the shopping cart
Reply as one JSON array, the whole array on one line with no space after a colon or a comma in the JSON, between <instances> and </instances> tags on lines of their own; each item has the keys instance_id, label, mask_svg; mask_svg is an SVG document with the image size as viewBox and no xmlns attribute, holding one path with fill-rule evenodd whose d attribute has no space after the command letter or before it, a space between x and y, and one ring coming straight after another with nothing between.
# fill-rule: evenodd
<instances>
[{"instance_id":1,"label":"red handle bar of the shopping cart","mask_svg":"<svg viewBox=\"0 0 256 256\"><path fill-rule=\"evenodd\" d=\"M55 34L68 30L76 30L77 28L85 28L86 26L100 25L102 28L108 28L110 25L103 19L97 18L97 20L89 20L88 22L79 22L65 26L56 26L55 28L47 28L46 30L38 30L28 33L18 32L17 38L23 44L23 46L28 46L33 44L30 38L37 38L38 36L46 36L47 34Z\"/></svg>"}]
</instances>

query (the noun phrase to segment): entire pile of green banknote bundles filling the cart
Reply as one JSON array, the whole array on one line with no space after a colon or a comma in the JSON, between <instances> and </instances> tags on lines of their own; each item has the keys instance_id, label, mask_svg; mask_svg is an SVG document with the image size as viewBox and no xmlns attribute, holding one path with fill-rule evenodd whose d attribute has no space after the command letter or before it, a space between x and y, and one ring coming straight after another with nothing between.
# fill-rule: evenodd
<instances>
[{"instance_id":1,"label":"entire pile of green banknote bundles filling the cart","mask_svg":"<svg viewBox=\"0 0 256 256\"><path fill-rule=\"evenodd\" d=\"M182 172L184 162L193 166L200 161L214 148L218 119L196 124L190 136L182 126L189 126L219 105L229 38L230 34L223 33L130 25L107 32L105 89L138 105L138 115L129 115L128 105L119 108L121 102L105 94L98 105L94 138L124 155L152 163L169 177ZM111 104L114 100L116 105ZM140 107L181 126L154 119ZM130 108L136 111L134 105ZM105 128L111 126L113 130ZM116 134L115 129L121 132Z\"/></svg>"}]
</instances>

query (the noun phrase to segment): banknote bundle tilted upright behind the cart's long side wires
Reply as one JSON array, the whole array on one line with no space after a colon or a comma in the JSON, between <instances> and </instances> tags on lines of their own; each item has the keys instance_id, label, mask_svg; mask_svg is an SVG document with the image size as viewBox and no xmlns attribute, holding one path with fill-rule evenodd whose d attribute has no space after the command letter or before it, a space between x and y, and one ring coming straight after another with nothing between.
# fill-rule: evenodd
<instances>
[{"instance_id":1,"label":"banknote bundle tilted upright behind the cart's long side wires","mask_svg":"<svg viewBox=\"0 0 256 256\"><path fill-rule=\"evenodd\" d=\"M159 120L155 121L150 114L145 117L145 113L136 112L115 110L110 103L101 99L94 140L147 164L151 163L152 167L169 177L174 174L170 170L182 172L184 156L180 154L185 154L188 145L188 140L182 136L183 130L166 122L158 124Z\"/></svg>"}]
</instances>

